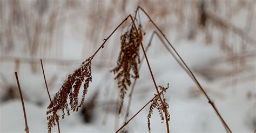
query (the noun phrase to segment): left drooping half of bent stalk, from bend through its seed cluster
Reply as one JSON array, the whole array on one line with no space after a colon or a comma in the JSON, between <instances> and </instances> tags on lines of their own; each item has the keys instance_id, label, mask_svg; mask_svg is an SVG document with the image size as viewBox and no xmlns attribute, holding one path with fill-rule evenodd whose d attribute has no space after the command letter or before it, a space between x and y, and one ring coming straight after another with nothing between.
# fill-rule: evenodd
<instances>
[{"instance_id":1,"label":"left drooping half of bent stalk, from bend through its seed cluster","mask_svg":"<svg viewBox=\"0 0 256 133\"><path fill-rule=\"evenodd\" d=\"M92 81L92 76L91 76L91 61L93 59L93 57L98 53L98 51L100 49L102 49L106 43L106 41L112 36L112 34L114 32L117 31L117 29L129 18L130 16L127 16L122 23L120 23L115 29L114 31L106 38L104 39L104 42L102 43L102 45L100 45L100 47L96 50L96 52L89 58L87 58L87 60L85 62L83 62L83 65L81 68L77 69L76 71L73 72L72 75L69 75L68 79L65 80L65 83L63 84L62 88L60 88L60 90L56 93L55 98L53 99L53 102L51 102L51 104L48 107L48 111L46 112L46 114L50 114L53 113L52 115L48 116L48 129L49 131L51 131L51 128L53 127L53 125L55 125L56 120L58 119L58 117L56 117L57 115L57 110L59 110L60 108L63 111L63 115L62 115L62 119L64 119L65 113L64 110L66 109L66 112L68 113L68 115L70 115L70 109L68 108L68 105L70 103L71 105L71 109L73 110L73 112L77 112L78 108L81 107L84 103L84 98L85 98L85 94L87 93L87 88L89 87L89 82ZM81 70L83 70L82 72L85 72L86 75L81 75ZM84 80L85 79L85 83L84 83L84 90L83 90L83 98L81 100L81 103L78 105L78 92L79 92L79 87L82 85L82 82L79 79L76 79L76 76L79 76L80 78L82 78ZM78 83L75 84L75 88L76 88L76 92L73 93L70 90L72 89L72 85L74 84L74 82L76 82L76 80L79 80ZM71 84L70 84L71 81ZM71 87L71 88L70 88ZM61 97L59 97L61 95ZM64 96L64 97L63 97ZM67 99L72 100L69 103L67 102Z\"/></svg>"}]
</instances>

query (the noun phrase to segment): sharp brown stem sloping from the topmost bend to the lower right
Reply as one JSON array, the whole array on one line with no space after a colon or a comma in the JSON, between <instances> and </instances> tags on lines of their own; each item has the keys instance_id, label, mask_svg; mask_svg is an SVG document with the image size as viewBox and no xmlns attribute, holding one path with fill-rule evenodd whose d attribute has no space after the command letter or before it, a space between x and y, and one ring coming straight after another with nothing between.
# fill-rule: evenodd
<instances>
[{"instance_id":1,"label":"sharp brown stem sloping from the topmost bend to the lower right","mask_svg":"<svg viewBox=\"0 0 256 133\"><path fill-rule=\"evenodd\" d=\"M217 107L214 105L214 103L212 102L212 100L210 99L210 97L208 96L208 94L205 92L204 88L200 85L200 83L198 82L197 78L194 76L193 72L190 70L190 68L187 67L187 64L183 61L183 59L180 57L180 55L178 54L178 52L176 51L176 49L171 45L170 41L166 38L165 34L161 31L161 29L154 23L154 21L150 18L149 14L146 13L146 11L141 8L140 6L138 6L136 12L138 10L142 10L145 15L147 16L147 18L150 19L150 22L154 25L154 27L156 27L158 29L158 31L161 33L161 35L164 36L164 39L167 41L167 43L169 43L169 45L171 46L171 48L173 49L174 53L176 53L176 55L179 57L180 61L184 64L184 66L186 67L186 69L190 72L191 76L193 77L193 79L195 80L195 82L197 83L199 89L204 93L205 97L208 99L208 103L212 106L212 108L214 109L215 113L217 113L218 117L220 118L220 120L223 122L224 127L229 131L232 132L231 129L228 127L227 123L224 121L223 117L220 115L220 113L218 112Z\"/></svg>"}]
</instances>

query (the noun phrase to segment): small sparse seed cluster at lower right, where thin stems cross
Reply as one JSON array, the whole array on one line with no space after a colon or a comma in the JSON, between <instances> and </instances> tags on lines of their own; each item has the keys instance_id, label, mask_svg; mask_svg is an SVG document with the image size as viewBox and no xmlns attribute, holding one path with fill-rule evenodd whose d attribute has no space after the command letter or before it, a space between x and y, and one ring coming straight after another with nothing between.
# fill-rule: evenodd
<instances>
[{"instance_id":1,"label":"small sparse seed cluster at lower right, where thin stems cross","mask_svg":"<svg viewBox=\"0 0 256 133\"><path fill-rule=\"evenodd\" d=\"M163 91L163 90L169 88L169 84L167 85L166 88L164 88L163 86L158 86L158 88L159 88L161 91ZM164 92L165 92L165 91L164 91ZM162 95L163 95L163 98L164 98L164 93L163 93ZM159 97L160 97L160 96L159 96ZM151 119L151 116L152 116L152 114L153 114L153 109L154 109L154 108L157 108L158 113L160 114L160 118L161 118L161 120L163 120L163 122L164 122L164 110L165 110L165 109L164 109L163 104L161 104L159 97L156 97L156 96L155 96L154 99L151 101L152 104L150 105L149 114L147 115L147 127L149 128L149 132L151 132L151 128L150 128L150 119ZM165 98L164 98L163 102L164 102L164 105L165 105L166 110L167 110L167 108L169 108L169 105L168 105L167 102L165 101ZM168 117L168 121L170 121L170 114L169 114L168 110L167 110L167 117ZM163 122L162 122L162 123L163 123Z\"/></svg>"}]
</instances>

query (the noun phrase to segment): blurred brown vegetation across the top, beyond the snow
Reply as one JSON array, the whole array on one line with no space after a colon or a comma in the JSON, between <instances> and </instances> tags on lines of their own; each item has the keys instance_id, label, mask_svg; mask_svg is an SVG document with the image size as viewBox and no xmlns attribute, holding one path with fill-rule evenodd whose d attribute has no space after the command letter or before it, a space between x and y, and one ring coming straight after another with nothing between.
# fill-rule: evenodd
<instances>
[{"instance_id":1,"label":"blurred brown vegetation across the top, beyond the snow","mask_svg":"<svg viewBox=\"0 0 256 133\"><path fill-rule=\"evenodd\" d=\"M211 72L234 75L240 70L252 70L246 61L255 60L255 3L254 0L2 0L0 63L14 63L15 71L18 71L21 63L31 64L32 72L39 70L38 58L44 58L45 64L75 64L80 58L91 55L119 21L140 5L163 32L172 35L171 41L174 44L178 44L175 42L180 40L203 40L205 45L217 45L227 54L227 57L216 58L211 63L216 65L231 62L232 70L212 69L213 65L210 64L201 69L200 73L209 79L213 76ZM147 21L142 13L141 18L143 23ZM147 32L152 31L154 27L145 23L144 29ZM80 58L65 60L63 57L66 30L69 30L73 40L82 43ZM99 55L100 67L114 62L112 58L118 52L116 47L119 45L119 36L114 35L114 38L111 40L112 44L107 47L108 52ZM239 66L233 67L234 64Z\"/></svg>"}]
</instances>

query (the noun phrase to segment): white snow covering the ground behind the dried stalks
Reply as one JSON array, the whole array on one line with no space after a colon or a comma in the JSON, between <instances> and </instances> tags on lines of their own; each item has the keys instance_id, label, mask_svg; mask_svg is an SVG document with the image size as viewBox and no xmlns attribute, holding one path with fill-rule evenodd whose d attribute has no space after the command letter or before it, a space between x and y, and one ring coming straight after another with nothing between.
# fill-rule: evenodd
<instances>
[{"instance_id":1,"label":"white snow covering the ground behind the dried stalks","mask_svg":"<svg viewBox=\"0 0 256 133\"><path fill-rule=\"evenodd\" d=\"M113 26L114 27L114 26ZM72 39L70 27L66 27L63 37L63 57L62 59L85 60L94 51L89 51L86 57L81 58L83 43ZM120 29L122 31L122 29ZM119 31L119 32L120 32ZM109 34L110 32L105 33ZM172 39L174 33L170 31L167 38ZM144 46L149 40L150 32L143 40ZM119 39L119 38L116 38ZM103 40L103 39L102 39ZM72 44L72 45L71 45ZM99 46L100 44L97 44ZM107 52L108 42L102 49ZM233 132L253 132L256 128L256 83L255 75L244 80L243 77L255 74L255 57L247 62L251 69L239 72L237 75L226 75L225 72L232 71L240 65L235 63L211 64L215 58L225 57L226 54L216 45L207 46L204 41L186 41L181 40L174 44L178 53L192 69L201 85L210 95L214 104L218 107L220 114ZM254 49L252 49L254 50ZM118 56L119 48L115 51ZM254 53L255 54L255 53ZM143 53L140 53L142 57ZM152 42L151 49L147 52L149 62L158 85L170 88L165 93L165 98L169 103L169 113L171 114L170 130L171 132L226 132L223 124L215 114L213 108L208 104L206 97L194 84L193 80L181 69L174 58L164 49L159 40ZM19 55L15 55L19 56ZM112 80L113 74L109 71L116 65L116 58L110 61L107 67L99 68L93 62L101 62L102 56L96 56L92 61L92 83L86 94L85 104L92 97L94 92L99 91L97 106L94 110L93 121L85 123L83 116L79 112L71 112L70 116L65 116L60 120L61 132L114 132L123 124L125 109L127 106L130 89L125 96L123 112L116 116L116 106L111 104L111 109L106 124L103 119L106 113L107 101L118 100L117 83ZM77 64L81 63L77 62ZM56 82L50 87L51 97L58 91L62 85L63 77L70 73L71 67L56 66L54 64L44 64L46 78L57 75ZM14 75L15 64L12 62L0 63L0 71L8 80L8 83L1 84L14 86L17 90ZM109 72L109 74L105 74ZM210 74L209 74L210 73ZM47 132L46 110L49 105L49 98L45 90L42 70L38 67L37 73L32 73L30 64L21 64L18 71L19 82L25 98L26 116L30 132ZM234 82L232 82L234 80ZM237 80L238 82L235 82ZM242 82L239 82L242 81ZM3 87L3 86L0 86ZM112 92L112 88L114 91ZM130 116L134 115L156 94L149 69L146 62L143 62L140 71L140 78L133 94ZM4 97L6 92L0 89L0 98ZM81 93L80 93L81 94ZM149 106L139 113L127 126L129 132L147 132L147 114ZM118 118L118 119L117 119ZM23 132L25 129L22 104L19 97L8 101L1 100L0 103L0 132ZM153 111L151 118L152 132L166 132L165 122L161 123L157 110ZM57 132L57 126L52 132Z\"/></svg>"}]
</instances>

